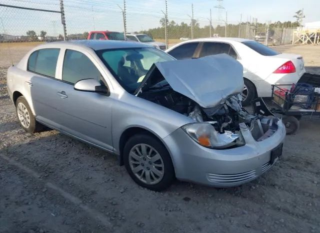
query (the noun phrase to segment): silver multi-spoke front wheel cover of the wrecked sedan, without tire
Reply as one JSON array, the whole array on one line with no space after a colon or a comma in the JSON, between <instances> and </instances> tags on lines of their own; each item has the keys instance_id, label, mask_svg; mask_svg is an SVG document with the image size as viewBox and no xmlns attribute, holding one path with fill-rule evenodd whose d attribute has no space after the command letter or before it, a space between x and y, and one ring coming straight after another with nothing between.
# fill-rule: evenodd
<instances>
[{"instance_id":1,"label":"silver multi-spoke front wheel cover of the wrecked sedan, without tire","mask_svg":"<svg viewBox=\"0 0 320 233\"><path fill-rule=\"evenodd\" d=\"M156 184L164 174L160 154L150 145L137 144L129 153L129 165L133 174L143 183Z\"/></svg>"}]
</instances>

